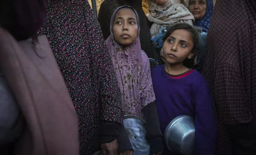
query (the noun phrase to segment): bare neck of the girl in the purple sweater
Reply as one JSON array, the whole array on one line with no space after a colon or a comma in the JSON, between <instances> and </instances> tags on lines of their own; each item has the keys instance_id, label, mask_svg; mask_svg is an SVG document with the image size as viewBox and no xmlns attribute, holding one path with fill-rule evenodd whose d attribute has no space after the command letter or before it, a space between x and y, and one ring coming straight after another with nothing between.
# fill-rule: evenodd
<instances>
[{"instance_id":1,"label":"bare neck of the girl in the purple sweater","mask_svg":"<svg viewBox=\"0 0 256 155\"><path fill-rule=\"evenodd\" d=\"M179 75L188 70L189 68L184 66L182 63L181 64L169 64L169 63L165 64L165 71L171 75Z\"/></svg>"}]
</instances>

